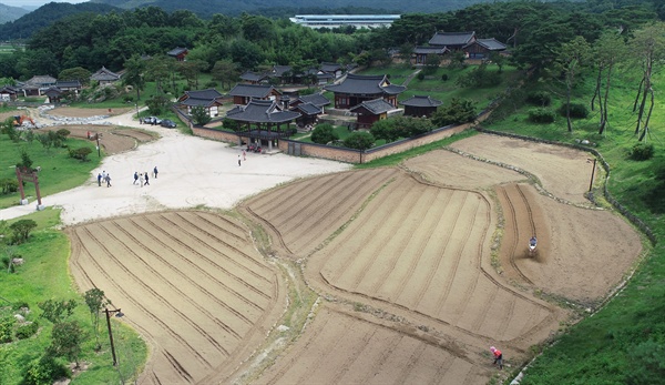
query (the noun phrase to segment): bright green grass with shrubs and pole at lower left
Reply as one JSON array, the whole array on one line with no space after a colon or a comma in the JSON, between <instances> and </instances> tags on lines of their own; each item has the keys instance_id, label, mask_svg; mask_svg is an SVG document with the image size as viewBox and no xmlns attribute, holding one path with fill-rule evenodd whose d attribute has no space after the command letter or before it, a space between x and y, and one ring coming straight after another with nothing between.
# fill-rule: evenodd
<instances>
[{"instance_id":1,"label":"bright green grass with shrubs and pole at lower left","mask_svg":"<svg viewBox=\"0 0 665 385\"><path fill-rule=\"evenodd\" d=\"M113 367L103 314L100 324L102 348L100 352L94 351L96 341L90 312L69 274L69 240L62 232L53 230L60 222L59 215L59 211L45 210L23 217L38 223L27 243L13 246L14 254L21 255L25 263L18 266L13 274L4 269L0 271L0 318L13 317L16 313L11 311L8 301L12 304L25 303L31 311L27 320L37 321L40 326L32 337L0 344L1 384L21 383L28 365L39 359L51 343L52 324L39 318L41 311L38 303L47 300L75 300L79 303L71 318L78 321L88 335L80 356L80 362L88 364L88 369L78 374L73 384L116 384L120 376L126 379L134 373L140 373L139 365L146 359L145 343L132 328L113 320L113 338L120 362L117 369ZM65 363L64 359L61 362Z\"/></svg>"}]
</instances>

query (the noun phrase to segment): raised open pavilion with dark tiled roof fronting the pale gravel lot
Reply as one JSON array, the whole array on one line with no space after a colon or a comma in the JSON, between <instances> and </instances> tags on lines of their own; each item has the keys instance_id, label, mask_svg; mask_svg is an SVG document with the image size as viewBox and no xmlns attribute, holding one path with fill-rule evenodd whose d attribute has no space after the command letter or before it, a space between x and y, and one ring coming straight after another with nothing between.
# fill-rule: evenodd
<instances>
[{"instance_id":1,"label":"raised open pavilion with dark tiled roof fronting the pale gravel lot","mask_svg":"<svg viewBox=\"0 0 665 385\"><path fill-rule=\"evenodd\" d=\"M291 134L290 123L300 114L284 110L275 100L252 100L247 105L236 105L229 110L226 118L241 124L238 138L247 138L248 143L267 146L272 151L280 138Z\"/></svg>"}]
</instances>

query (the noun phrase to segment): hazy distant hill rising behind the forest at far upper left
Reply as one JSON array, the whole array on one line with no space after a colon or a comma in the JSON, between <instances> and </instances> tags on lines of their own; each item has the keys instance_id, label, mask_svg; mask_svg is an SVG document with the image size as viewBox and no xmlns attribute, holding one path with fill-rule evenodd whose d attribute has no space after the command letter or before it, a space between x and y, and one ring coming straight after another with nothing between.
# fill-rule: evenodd
<instances>
[{"instance_id":1,"label":"hazy distant hill rising behind the forest at far upper left","mask_svg":"<svg viewBox=\"0 0 665 385\"><path fill-rule=\"evenodd\" d=\"M4 16L1 7L6 6L0 6L0 17ZM23 10L22 8L16 7L9 8ZM81 12L109 13L114 10L119 11L117 8L112 6L92 2L82 2L78 4L70 4L69 2L50 2L33 12L23 10L24 14L22 17L6 22L4 24L0 24L0 40L30 38L38 29L50 26L57 20L71 14Z\"/></svg>"}]
</instances>

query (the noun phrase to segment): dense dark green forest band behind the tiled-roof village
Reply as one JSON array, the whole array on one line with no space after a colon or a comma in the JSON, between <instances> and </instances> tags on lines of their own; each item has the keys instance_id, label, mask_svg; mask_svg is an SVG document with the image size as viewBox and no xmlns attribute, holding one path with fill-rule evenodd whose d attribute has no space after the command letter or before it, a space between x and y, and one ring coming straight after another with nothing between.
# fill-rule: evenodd
<instances>
[{"instance_id":1,"label":"dense dark green forest band behind the tiled-roof village","mask_svg":"<svg viewBox=\"0 0 665 385\"><path fill-rule=\"evenodd\" d=\"M214 14L204 20L192 11L168 13L149 7L65 17L35 32L24 51L0 57L0 73L25 80L79 67L95 71L105 65L117 71L131 57L165 57L176 47L188 48L190 65L203 72L216 67L243 71L274 64L306 69L321 61L367 64L388 60L388 49L408 53L427 43L434 31L475 31L480 38L508 43L514 64L542 67L554 62L557 48L574 37L592 43L606 29L630 36L637 26L657 19L649 3L603 9L600 2L581 7L515 1L405 14L390 28L311 30L287 19Z\"/></svg>"}]
</instances>

